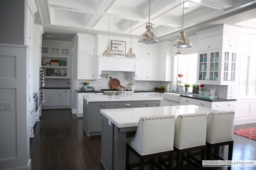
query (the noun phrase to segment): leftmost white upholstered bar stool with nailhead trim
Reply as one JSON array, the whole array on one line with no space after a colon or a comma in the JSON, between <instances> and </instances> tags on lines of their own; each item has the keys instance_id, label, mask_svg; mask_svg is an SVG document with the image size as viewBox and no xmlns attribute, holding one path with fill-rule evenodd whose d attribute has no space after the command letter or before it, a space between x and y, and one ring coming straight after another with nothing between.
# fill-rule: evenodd
<instances>
[{"instance_id":1,"label":"leftmost white upholstered bar stool with nailhead trim","mask_svg":"<svg viewBox=\"0 0 256 170\"><path fill-rule=\"evenodd\" d=\"M138 122L136 135L127 138L126 143L126 170L138 167L144 170L145 159L151 159L151 170L155 163L155 158L159 156L169 156L168 170L172 170L173 164L173 142L174 142L174 115L161 115L151 117L141 117ZM130 150L139 158L140 163L129 165Z\"/></svg>"}]
</instances>

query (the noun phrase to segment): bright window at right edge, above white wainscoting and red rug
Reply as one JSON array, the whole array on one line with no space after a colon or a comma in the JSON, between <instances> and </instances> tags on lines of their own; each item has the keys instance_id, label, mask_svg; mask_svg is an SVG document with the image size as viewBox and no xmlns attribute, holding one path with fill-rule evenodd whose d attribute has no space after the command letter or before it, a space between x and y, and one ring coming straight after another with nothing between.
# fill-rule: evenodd
<instances>
[{"instance_id":1,"label":"bright window at right edge, above white wainscoting and red rug","mask_svg":"<svg viewBox=\"0 0 256 170\"><path fill-rule=\"evenodd\" d=\"M256 95L256 57L240 55L237 57L238 96Z\"/></svg>"}]
</instances>

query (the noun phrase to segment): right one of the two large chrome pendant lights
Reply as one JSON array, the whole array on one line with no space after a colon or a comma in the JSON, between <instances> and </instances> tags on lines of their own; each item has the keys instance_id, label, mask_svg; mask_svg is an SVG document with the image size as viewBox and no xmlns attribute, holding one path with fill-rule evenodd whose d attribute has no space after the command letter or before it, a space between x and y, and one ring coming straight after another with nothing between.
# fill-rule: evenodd
<instances>
[{"instance_id":1,"label":"right one of the two large chrome pendant lights","mask_svg":"<svg viewBox=\"0 0 256 170\"><path fill-rule=\"evenodd\" d=\"M189 39L186 37L186 30L183 29L184 25L184 0L183 0L183 20L182 20L182 29L180 29L180 37L178 37L173 45L173 47L176 48L188 48L192 47L191 42Z\"/></svg>"}]
</instances>

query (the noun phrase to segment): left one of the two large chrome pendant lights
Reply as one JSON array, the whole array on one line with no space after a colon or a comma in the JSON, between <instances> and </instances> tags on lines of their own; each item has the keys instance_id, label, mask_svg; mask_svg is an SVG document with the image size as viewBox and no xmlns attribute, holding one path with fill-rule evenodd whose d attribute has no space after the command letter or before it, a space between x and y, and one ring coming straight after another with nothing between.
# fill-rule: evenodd
<instances>
[{"instance_id":1,"label":"left one of the two large chrome pendant lights","mask_svg":"<svg viewBox=\"0 0 256 170\"><path fill-rule=\"evenodd\" d=\"M152 23L150 23L150 0L149 0L149 22L146 24L146 29L147 29L147 31L145 31L141 35L141 38L138 40L138 42L143 43L143 44L158 43L155 33L153 33L153 31L151 31L151 29L153 29L153 27L152 27Z\"/></svg>"}]
</instances>

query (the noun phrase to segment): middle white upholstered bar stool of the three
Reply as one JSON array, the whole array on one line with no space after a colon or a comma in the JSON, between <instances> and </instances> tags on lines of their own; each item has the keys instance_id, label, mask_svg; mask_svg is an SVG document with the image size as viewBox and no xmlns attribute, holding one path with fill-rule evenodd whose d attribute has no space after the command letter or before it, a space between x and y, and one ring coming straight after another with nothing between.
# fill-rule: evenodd
<instances>
[{"instance_id":1,"label":"middle white upholstered bar stool of the three","mask_svg":"<svg viewBox=\"0 0 256 170\"><path fill-rule=\"evenodd\" d=\"M206 156L206 125L206 113L177 116L174 132L174 151L177 152L176 170L180 170L183 166L182 159L197 168L203 168L202 161L205 160ZM198 150L201 150L201 160L191 158L197 164L184 156L184 153Z\"/></svg>"}]
</instances>

